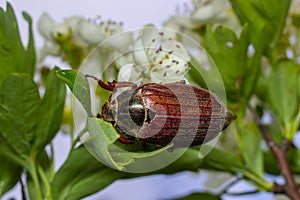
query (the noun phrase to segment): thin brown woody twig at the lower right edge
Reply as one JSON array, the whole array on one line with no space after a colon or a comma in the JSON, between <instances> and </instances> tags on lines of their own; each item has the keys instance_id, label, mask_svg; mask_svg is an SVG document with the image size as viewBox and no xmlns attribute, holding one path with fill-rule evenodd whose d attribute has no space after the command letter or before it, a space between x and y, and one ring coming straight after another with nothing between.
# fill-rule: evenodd
<instances>
[{"instance_id":1,"label":"thin brown woody twig at the lower right edge","mask_svg":"<svg viewBox=\"0 0 300 200\"><path fill-rule=\"evenodd\" d=\"M274 193L281 193L282 191L279 191L279 189L280 190L284 189L285 193L290 198L292 198L293 200L300 200L299 190L298 190L297 184L295 182L295 179L293 177L291 168L288 164L288 159L286 156L287 149L281 148L279 145L277 145L275 143L275 141L273 140L273 138L272 138L271 134L269 133L269 131L267 130L267 128L261 123L260 118L258 117L255 110L251 109L251 111L254 115L254 120L255 120L256 124L258 125L264 140L266 141L267 145L269 146L272 153L274 154L274 156L280 166L281 173L284 176L285 181L286 181L286 187L284 187L284 188L279 187L278 184L274 184L274 188L273 188Z\"/></svg>"}]
</instances>

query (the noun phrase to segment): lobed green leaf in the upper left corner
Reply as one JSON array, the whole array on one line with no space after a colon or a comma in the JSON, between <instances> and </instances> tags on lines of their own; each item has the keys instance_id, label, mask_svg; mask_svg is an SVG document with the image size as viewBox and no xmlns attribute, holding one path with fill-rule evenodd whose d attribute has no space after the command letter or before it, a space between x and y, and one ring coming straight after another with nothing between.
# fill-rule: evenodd
<instances>
[{"instance_id":1,"label":"lobed green leaf in the upper left corner","mask_svg":"<svg viewBox=\"0 0 300 200\"><path fill-rule=\"evenodd\" d=\"M12 6L7 3L6 11L0 8L0 86L2 81L13 72L27 73L33 76L35 67L35 49L32 33L32 20L23 13L28 22L28 45L23 46L18 23Z\"/></svg>"}]
</instances>

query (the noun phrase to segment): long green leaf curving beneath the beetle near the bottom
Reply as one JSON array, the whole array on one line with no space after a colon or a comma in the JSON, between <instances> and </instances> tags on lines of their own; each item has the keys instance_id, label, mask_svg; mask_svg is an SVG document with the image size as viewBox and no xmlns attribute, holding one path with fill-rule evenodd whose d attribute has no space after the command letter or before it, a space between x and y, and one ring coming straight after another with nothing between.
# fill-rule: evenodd
<instances>
[{"instance_id":1,"label":"long green leaf curving beneath the beetle near the bottom","mask_svg":"<svg viewBox=\"0 0 300 200\"><path fill-rule=\"evenodd\" d=\"M52 183L53 199L80 199L104 189L116 180L158 173L170 174L182 170L197 171L201 164L199 150L190 148L178 160L158 171L124 173L103 165L81 146L71 152L67 161L56 173Z\"/></svg>"}]
</instances>

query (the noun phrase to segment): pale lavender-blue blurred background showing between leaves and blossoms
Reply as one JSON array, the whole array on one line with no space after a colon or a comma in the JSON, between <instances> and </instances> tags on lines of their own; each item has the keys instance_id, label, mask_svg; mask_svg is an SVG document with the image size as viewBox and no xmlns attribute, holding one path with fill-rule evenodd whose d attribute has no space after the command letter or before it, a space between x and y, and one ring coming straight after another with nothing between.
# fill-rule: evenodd
<instances>
[{"instance_id":1,"label":"pale lavender-blue blurred background showing between leaves and blossoms","mask_svg":"<svg viewBox=\"0 0 300 200\"><path fill-rule=\"evenodd\" d=\"M0 0L0 6L6 7L6 2ZM26 11L33 18L33 31L36 42L36 48L42 48L44 40L39 35L37 30L37 21L44 12L47 12L55 22L62 22L65 18L71 16L82 16L85 18L94 19L101 16L101 19L111 19L116 22L122 22L125 31L139 29L147 23L153 23L156 26L162 26L171 15L174 15L179 10L183 10L189 4L185 0L10 0L15 14L17 15L21 36L25 39L27 36L27 23L24 22L21 15L22 11ZM23 40L24 41L24 40ZM26 42L26 41L24 41ZM64 65L57 59L51 58L45 60L46 65ZM58 134L54 139L55 168L66 159L68 149L70 148L69 137L64 134ZM156 175L145 178L136 178L133 180L120 180L105 188L103 191L94 194L86 200L93 199L174 199L185 194L201 191L205 188L205 184L213 182L207 180L206 171L199 173L182 172L175 175ZM215 179L223 179L222 175L216 174ZM225 177L226 178L226 177ZM240 182L232 188L234 191L242 192L251 190L246 182ZM17 185L11 192L7 193L3 200L21 199L21 189ZM171 196L172 195L172 196ZM234 199L273 199L272 194L260 193L257 195L244 195L241 197L223 196L225 200Z\"/></svg>"}]
</instances>

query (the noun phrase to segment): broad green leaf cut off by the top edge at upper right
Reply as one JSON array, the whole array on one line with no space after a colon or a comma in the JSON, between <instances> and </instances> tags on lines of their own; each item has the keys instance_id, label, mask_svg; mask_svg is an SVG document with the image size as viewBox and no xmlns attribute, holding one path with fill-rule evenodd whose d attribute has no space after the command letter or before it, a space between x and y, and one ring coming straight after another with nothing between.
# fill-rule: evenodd
<instances>
[{"instance_id":1,"label":"broad green leaf cut off by the top edge at upper right","mask_svg":"<svg viewBox=\"0 0 300 200\"><path fill-rule=\"evenodd\" d=\"M249 24L255 48L266 50L280 38L291 0L230 0L242 24Z\"/></svg>"}]
</instances>

